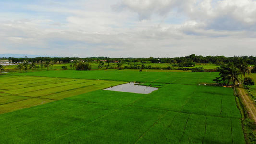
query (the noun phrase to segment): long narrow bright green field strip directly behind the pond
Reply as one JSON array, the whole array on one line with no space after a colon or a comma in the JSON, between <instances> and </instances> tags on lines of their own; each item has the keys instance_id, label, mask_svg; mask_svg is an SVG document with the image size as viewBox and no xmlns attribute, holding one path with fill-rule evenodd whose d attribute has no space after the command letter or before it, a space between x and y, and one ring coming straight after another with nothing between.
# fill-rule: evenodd
<instances>
[{"instance_id":1,"label":"long narrow bright green field strip directly behind the pond","mask_svg":"<svg viewBox=\"0 0 256 144\"><path fill-rule=\"evenodd\" d=\"M134 72L134 71L42 71L16 73L15 75L100 79L130 82L154 82L169 84L192 84L213 83L212 79L219 76L218 72Z\"/></svg>"}]
</instances>

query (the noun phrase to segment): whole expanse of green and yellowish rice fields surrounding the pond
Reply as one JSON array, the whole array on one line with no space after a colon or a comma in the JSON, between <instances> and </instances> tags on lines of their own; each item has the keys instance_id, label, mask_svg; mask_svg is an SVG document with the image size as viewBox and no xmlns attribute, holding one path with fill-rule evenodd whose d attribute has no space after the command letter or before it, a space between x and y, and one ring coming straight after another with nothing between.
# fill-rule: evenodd
<instances>
[{"instance_id":1,"label":"whole expanse of green and yellowish rice fields surrounding the pond","mask_svg":"<svg viewBox=\"0 0 256 144\"><path fill-rule=\"evenodd\" d=\"M217 75L42 71L0 77L0 142L244 144L233 90L198 85ZM162 87L150 94L102 90L129 81Z\"/></svg>"}]
</instances>

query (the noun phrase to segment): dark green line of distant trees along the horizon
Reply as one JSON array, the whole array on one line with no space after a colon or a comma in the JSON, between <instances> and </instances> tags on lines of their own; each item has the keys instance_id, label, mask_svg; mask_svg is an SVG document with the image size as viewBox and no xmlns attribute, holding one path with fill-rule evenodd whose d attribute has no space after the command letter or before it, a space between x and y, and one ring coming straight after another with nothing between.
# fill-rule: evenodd
<instances>
[{"instance_id":1,"label":"dark green line of distant trees along the horizon","mask_svg":"<svg viewBox=\"0 0 256 144\"><path fill-rule=\"evenodd\" d=\"M186 56L186 57L175 57L175 58L108 58L108 57L90 57L90 58L78 58L78 57L63 57L63 58L51 58L51 57L36 57L36 58L13 58L9 57L8 60L14 63L23 63L23 62L46 62L46 61L55 61L62 63L70 63L71 60L82 60L85 62L100 62L100 60L107 60L107 62L141 62L141 63L181 63L183 65L189 63L214 63L217 65L224 65L225 63L233 62L235 63L238 59L243 59L248 64L256 64L256 56L234 56L234 57L224 57L224 56L196 56L195 54Z\"/></svg>"}]
</instances>

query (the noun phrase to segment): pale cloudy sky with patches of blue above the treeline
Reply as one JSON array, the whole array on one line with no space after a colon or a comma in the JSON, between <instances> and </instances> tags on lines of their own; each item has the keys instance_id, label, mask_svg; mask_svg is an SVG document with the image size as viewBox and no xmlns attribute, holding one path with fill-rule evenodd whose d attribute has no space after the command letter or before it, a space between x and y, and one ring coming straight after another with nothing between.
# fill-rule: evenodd
<instances>
[{"instance_id":1,"label":"pale cloudy sky with patches of blue above the treeline","mask_svg":"<svg viewBox=\"0 0 256 144\"><path fill-rule=\"evenodd\" d=\"M0 0L0 53L256 56L256 0Z\"/></svg>"}]
</instances>

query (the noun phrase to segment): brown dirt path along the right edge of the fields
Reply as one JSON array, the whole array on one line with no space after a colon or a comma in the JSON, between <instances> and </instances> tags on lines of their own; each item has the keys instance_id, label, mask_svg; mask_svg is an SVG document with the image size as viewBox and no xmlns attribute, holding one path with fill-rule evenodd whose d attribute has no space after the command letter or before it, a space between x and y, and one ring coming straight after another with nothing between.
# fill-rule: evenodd
<instances>
[{"instance_id":1,"label":"brown dirt path along the right edge of the fields","mask_svg":"<svg viewBox=\"0 0 256 144\"><path fill-rule=\"evenodd\" d=\"M256 122L256 108L254 102L246 95L246 89L238 88L239 94L242 97L243 103L246 105L248 109L250 117Z\"/></svg>"}]
</instances>

